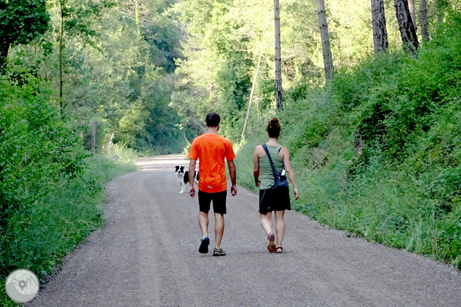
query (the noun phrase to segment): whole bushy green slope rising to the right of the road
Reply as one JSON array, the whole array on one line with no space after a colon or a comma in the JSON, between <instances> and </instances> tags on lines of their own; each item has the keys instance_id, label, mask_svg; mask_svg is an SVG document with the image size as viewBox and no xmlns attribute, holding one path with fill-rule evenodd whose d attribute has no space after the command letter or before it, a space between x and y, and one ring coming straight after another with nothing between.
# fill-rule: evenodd
<instances>
[{"instance_id":1,"label":"whole bushy green slope rising to the right of the road","mask_svg":"<svg viewBox=\"0 0 461 307\"><path fill-rule=\"evenodd\" d=\"M325 89L285 95L280 143L300 188L297 210L461 268L460 27L453 13L416 55L383 54L336 72ZM265 127L237 154L248 187Z\"/></svg>"}]
</instances>

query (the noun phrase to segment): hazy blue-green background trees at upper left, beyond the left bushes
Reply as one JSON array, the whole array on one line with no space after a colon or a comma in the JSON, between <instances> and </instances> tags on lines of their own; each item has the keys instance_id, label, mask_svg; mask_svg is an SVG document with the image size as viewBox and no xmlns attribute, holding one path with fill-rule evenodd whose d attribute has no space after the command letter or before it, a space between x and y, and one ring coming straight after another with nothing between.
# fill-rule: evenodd
<instances>
[{"instance_id":1,"label":"hazy blue-green background trees at upper left, beyond the left bushes","mask_svg":"<svg viewBox=\"0 0 461 307\"><path fill-rule=\"evenodd\" d=\"M181 31L165 12L170 1L51 1L53 32L46 40L53 53L39 57L24 48L24 59L39 62L39 76L59 89L60 21L62 113L78 130L87 149L104 152L109 138L131 148L156 153L179 152L185 127L169 106L174 59L181 57ZM35 45L34 48L41 48ZM19 50L16 48L16 50ZM21 51L23 51L21 50ZM57 98L60 99L60 98Z\"/></svg>"}]
</instances>

